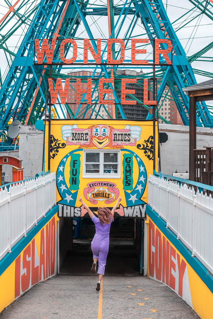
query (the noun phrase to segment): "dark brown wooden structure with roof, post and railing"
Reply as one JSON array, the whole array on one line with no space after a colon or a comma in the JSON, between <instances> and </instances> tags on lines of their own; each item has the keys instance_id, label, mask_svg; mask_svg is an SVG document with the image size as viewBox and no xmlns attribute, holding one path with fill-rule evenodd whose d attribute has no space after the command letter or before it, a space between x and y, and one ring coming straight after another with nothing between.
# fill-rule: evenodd
<instances>
[{"instance_id":1,"label":"dark brown wooden structure with roof, post and railing","mask_svg":"<svg viewBox=\"0 0 213 319\"><path fill-rule=\"evenodd\" d=\"M213 79L182 90L189 96L189 180L213 185L213 146L196 149L196 102L213 100Z\"/></svg>"}]
</instances>

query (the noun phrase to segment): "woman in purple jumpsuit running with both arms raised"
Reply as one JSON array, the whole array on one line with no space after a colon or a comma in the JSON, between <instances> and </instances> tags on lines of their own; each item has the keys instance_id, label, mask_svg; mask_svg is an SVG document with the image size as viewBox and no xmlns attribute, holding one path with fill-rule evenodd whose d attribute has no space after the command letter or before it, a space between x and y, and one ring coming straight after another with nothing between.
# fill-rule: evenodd
<instances>
[{"instance_id":1,"label":"woman in purple jumpsuit running with both arms raised","mask_svg":"<svg viewBox=\"0 0 213 319\"><path fill-rule=\"evenodd\" d=\"M82 198L78 198L79 202L84 206L88 211L90 218L92 218L93 223L95 224L95 236L91 243L92 253L93 253L93 264L92 264L92 273L96 271L97 261L99 262L98 274L99 281L97 283L96 290L100 290L100 282L104 275L105 265L107 261L107 254L109 250L109 230L112 221L114 220L114 211L118 207L118 204L121 202L121 197L118 198L117 203L114 205L112 211L106 207L98 208L98 218L93 214L89 207L83 202Z\"/></svg>"}]
</instances>

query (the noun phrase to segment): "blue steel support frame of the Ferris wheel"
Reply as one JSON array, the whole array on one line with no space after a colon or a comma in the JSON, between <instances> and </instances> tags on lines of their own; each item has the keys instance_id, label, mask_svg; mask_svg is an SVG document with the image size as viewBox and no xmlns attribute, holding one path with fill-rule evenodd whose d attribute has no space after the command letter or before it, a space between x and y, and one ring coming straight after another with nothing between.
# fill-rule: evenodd
<instances>
[{"instance_id":1,"label":"blue steel support frame of the Ferris wheel","mask_svg":"<svg viewBox=\"0 0 213 319\"><path fill-rule=\"evenodd\" d=\"M198 2L197 0L189 1ZM108 36L109 38L119 38L119 34L126 21L126 18L131 16L132 18L126 31L126 38L132 38L132 33L136 23L140 21L145 28L149 39L172 39L173 65L161 67L159 73L161 82L158 88L158 103L160 102L165 86L168 85L184 125L189 125L189 99L188 96L182 92L182 88L196 84L196 79L192 67L187 60L186 53L173 29L171 22L169 21L162 0L126 0L123 6L114 6L112 0L109 0L109 2L111 5L111 34ZM63 14L65 14L64 17ZM5 135L5 132L7 131L8 122L10 119L17 119L22 124L34 124L36 120L41 118L44 114L46 102L46 84L47 78L49 76L49 70L48 68L44 70L43 66L33 65L34 39L51 39L54 36L57 36L54 34L59 26L60 28L58 33L60 34L61 38L74 38L80 23L84 24L88 38L93 39L94 37L92 35L91 28L87 22L88 15L107 16L109 15L109 12L107 11L107 6L89 6L88 0L85 2L77 0L67 0L63 2L60 0L40 1L37 10L35 13L33 12L31 24L28 27L23 41L1 86L0 132L2 136L3 134ZM118 16L116 23L114 21L115 16ZM96 50L95 41L92 42L92 46L94 50ZM69 48L65 50L64 56L68 54L68 51ZM118 55L118 53L114 51L114 56L116 56L116 54ZM56 45L54 56L59 55L60 47ZM113 67L115 76L116 68L116 66ZM58 65L55 67L53 70L54 76L61 77L61 70L62 66ZM97 68L94 69L92 79L96 70ZM101 66L99 77L101 76L110 78L110 73L107 71L104 65ZM144 74L143 77L146 78L146 74ZM97 86L98 81L94 85L93 93L95 90L97 90ZM113 89L115 102L118 105L121 117L125 119L126 115L121 106L116 89L114 89L111 84L109 86L111 89ZM35 96L36 89L37 93ZM133 96L132 98L134 99ZM142 107L146 107L143 106L143 101L140 103ZM31 108L32 104L33 108ZM87 105L84 108L82 115L79 115L80 107L81 105L79 105L75 114L72 112L69 105L65 105L60 112L58 112L57 108L55 108L55 112L57 117L60 117L59 113L62 112L63 117L67 117L67 115L69 115L70 118L79 118L79 116L84 118L88 108L92 109L90 105ZM99 110L100 108L101 105L99 106ZM31 110L31 116L27 118L29 110ZM96 112L97 114L99 113L99 110ZM91 111L91 116L94 114L94 112L95 111L93 108ZM151 119L152 115L148 114L147 117L148 119ZM204 127L213 126L213 118L205 102L197 103L196 125ZM5 145L8 145L11 140L6 138L5 142L7 142Z\"/></svg>"}]
</instances>

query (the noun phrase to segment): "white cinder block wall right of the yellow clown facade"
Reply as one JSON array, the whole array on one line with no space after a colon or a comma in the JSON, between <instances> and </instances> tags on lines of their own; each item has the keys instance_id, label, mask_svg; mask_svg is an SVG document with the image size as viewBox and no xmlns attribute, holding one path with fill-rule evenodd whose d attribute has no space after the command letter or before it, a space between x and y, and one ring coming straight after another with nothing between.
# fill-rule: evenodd
<instances>
[{"instance_id":1,"label":"white cinder block wall right of the yellow clown facade","mask_svg":"<svg viewBox=\"0 0 213 319\"><path fill-rule=\"evenodd\" d=\"M159 124L159 131L168 135L168 141L160 145L161 172L172 175L189 171L189 127ZM197 149L213 147L213 128L197 127Z\"/></svg>"}]
</instances>

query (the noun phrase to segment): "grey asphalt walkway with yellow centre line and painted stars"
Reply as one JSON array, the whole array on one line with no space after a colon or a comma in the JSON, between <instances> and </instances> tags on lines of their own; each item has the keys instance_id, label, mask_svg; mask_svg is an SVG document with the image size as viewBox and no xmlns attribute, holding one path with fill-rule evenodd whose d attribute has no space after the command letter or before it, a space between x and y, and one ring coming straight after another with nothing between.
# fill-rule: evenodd
<instances>
[{"instance_id":1,"label":"grey asphalt walkway with yellow centre line and painted stars","mask_svg":"<svg viewBox=\"0 0 213 319\"><path fill-rule=\"evenodd\" d=\"M143 276L58 275L33 286L1 319L195 319L198 315L164 284Z\"/></svg>"}]
</instances>

